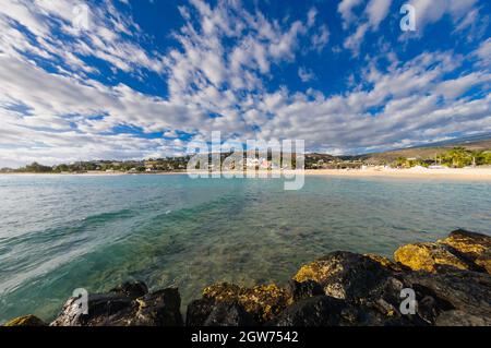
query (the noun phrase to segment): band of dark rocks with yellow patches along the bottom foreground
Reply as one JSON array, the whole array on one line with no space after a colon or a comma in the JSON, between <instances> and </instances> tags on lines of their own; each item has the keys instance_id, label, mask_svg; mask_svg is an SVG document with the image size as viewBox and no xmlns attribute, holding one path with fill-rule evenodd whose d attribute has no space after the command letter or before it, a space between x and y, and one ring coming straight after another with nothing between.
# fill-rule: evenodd
<instances>
[{"instance_id":1,"label":"band of dark rocks with yellow patches along the bottom foreground","mask_svg":"<svg viewBox=\"0 0 491 348\"><path fill-rule=\"evenodd\" d=\"M409 313L408 289L416 301ZM217 284L188 305L185 319L180 305L178 289L127 283L89 295L88 314L71 298L52 323L27 315L5 326L488 326L491 237L456 230L404 245L394 260L334 252L303 265L285 288Z\"/></svg>"}]
</instances>

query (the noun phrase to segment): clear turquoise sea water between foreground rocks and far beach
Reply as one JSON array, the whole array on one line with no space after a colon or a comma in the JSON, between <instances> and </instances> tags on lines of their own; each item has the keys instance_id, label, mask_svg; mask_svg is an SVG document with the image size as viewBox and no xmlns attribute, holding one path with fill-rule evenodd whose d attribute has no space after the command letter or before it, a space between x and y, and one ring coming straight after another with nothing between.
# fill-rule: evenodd
<instances>
[{"instance_id":1,"label":"clear turquoise sea water between foreground rocks and far beach","mask_svg":"<svg viewBox=\"0 0 491 348\"><path fill-rule=\"evenodd\" d=\"M334 250L392 255L456 228L491 235L491 183L307 177L0 176L0 322L52 319L75 288L285 284Z\"/></svg>"}]
</instances>

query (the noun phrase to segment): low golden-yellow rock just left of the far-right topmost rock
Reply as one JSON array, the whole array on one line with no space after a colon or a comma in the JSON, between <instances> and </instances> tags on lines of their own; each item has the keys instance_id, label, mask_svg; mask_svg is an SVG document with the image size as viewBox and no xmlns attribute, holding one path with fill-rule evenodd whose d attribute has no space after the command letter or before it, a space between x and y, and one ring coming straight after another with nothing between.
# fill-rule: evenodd
<instances>
[{"instance_id":1,"label":"low golden-yellow rock just left of the far-right topmost rock","mask_svg":"<svg viewBox=\"0 0 491 348\"><path fill-rule=\"evenodd\" d=\"M415 243L400 247L394 252L394 260L414 271L436 272L438 265L459 269L476 269L471 262L459 257L451 248L440 243Z\"/></svg>"}]
</instances>

